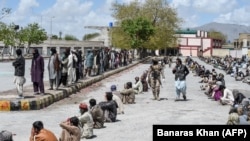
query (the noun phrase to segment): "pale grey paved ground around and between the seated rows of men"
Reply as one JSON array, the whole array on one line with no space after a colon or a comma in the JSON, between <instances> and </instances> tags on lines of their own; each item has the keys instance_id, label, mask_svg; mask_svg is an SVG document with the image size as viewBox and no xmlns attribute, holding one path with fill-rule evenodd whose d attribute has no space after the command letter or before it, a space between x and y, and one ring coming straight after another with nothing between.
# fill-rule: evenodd
<instances>
[{"instance_id":1,"label":"pale grey paved ground around and between the seated rows of men","mask_svg":"<svg viewBox=\"0 0 250 141\"><path fill-rule=\"evenodd\" d=\"M207 64L204 65L206 68L212 68ZM139 64L39 111L1 112L0 130L14 132L16 134L15 141L27 141L32 123L36 120L42 120L45 128L52 130L59 137L61 132L59 123L68 117L79 115L79 102L88 102L90 98L96 98L98 102L103 100L104 92L109 91L112 84L116 84L118 90L121 90L125 82L134 82L134 77L140 76L148 67L149 64ZM192 73L187 77L187 101L175 102L174 75L171 70L168 67L165 69L166 82L163 83L160 94L161 98L168 98L168 100L151 100L151 91L136 95L136 104L125 105L125 114L118 115L119 121L105 123L106 128L104 129L95 129L94 134L97 137L91 140L151 141L152 125L154 124L219 125L226 123L229 106L222 106L208 99L199 88L200 78L194 77ZM227 87L231 89L250 90L247 84L236 82L228 75L225 75L225 79Z\"/></svg>"}]
</instances>

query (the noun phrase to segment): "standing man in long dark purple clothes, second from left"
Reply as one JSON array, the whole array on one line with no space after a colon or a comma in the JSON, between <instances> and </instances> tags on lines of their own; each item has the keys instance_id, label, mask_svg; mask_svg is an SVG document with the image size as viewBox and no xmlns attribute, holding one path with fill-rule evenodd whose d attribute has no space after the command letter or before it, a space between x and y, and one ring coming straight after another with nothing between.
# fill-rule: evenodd
<instances>
[{"instance_id":1,"label":"standing man in long dark purple clothes, second from left","mask_svg":"<svg viewBox=\"0 0 250 141\"><path fill-rule=\"evenodd\" d=\"M38 49L36 48L33 50L33 58L30 71L34 94L44 94L44 58L39 54Z\"/></svg>"}]
</instances>

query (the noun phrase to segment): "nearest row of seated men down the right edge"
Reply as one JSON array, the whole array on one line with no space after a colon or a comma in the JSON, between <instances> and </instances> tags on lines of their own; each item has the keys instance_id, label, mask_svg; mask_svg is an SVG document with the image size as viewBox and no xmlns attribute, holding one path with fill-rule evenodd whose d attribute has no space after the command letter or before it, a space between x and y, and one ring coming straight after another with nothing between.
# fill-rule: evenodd
<instances>
[{"instance_id":1,"label":"nearest row of seated men down the right edge","mask_svg":"<svg viewBox=\"0 0 250 141\"><path fill-rule=\"evenodd\" d=\"M224 75L211 71L196 63L196 76L201 77L201 90L209 99L218 101L221 105L230 105L227 125L250 125L250 99L237 89L230 90L225 85ZM204 71L205 70L205 71Z\"/></svg>"}]
</instances>

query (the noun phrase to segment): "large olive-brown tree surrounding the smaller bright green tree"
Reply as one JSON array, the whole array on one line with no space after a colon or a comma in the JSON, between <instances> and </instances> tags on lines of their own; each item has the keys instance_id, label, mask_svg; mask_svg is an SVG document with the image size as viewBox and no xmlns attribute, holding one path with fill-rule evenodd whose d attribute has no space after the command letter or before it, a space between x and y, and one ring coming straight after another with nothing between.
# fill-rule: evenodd
<instances>
[{"instance_id":1,"label":"large olive-brown tree surrounding the smaller bright green tree","mask_svg":"<svg viewBox=\"0 0 250 141\"><path fill-rule=\"evenodd\" d=\"M163 49L170 47L176 41L175 31L179 28L182 20L178 18L176 10L171 8L166 0L146 0L145 3L139 3L137 0L129 4L113 4L112 16L116 20L113 28L112 41L117 47L127 46L131 38L124 35L124 30L120 30L122 23L126 20L136 21L139 18L151 23L155 34L149 36L149 40L144 41L140 47L143 49ZM124 37L120 37L124 36ZM124 39L123 42L118 40ZM132 46L131 46L132 48Z\"/></svg>"}]
</instances>

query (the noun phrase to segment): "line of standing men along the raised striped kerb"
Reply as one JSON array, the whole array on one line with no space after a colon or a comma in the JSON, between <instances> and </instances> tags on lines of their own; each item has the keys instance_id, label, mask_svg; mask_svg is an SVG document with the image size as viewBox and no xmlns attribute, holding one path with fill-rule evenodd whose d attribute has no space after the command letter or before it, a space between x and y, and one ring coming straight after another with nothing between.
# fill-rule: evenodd
<instances>
[{"instance_id":1,"label":"line of standing men along the raised striped kerb","mask_svg":"<svg viewBox=\"0 0 250 141\"><path fill-rule=\"evenodd\" d=\"M60 55L55 48L50 49L48 64L44 64L44 57L38 49L33 49L31 63L31 81L34 95L44 95L44 70L48 69L50 87L48 90L58 90L60 86L68 87L80 79L101 75L109 70L117 69L132 63L133 53L129 50L115 51L108 48L87 50L86 56L81 50L65 49ZM14 83L19 98L24 98L23 85L25 79L25 58L22 50L16 50L17 58L13 62L15 68Z\"/></svg>"}]
</instances>

